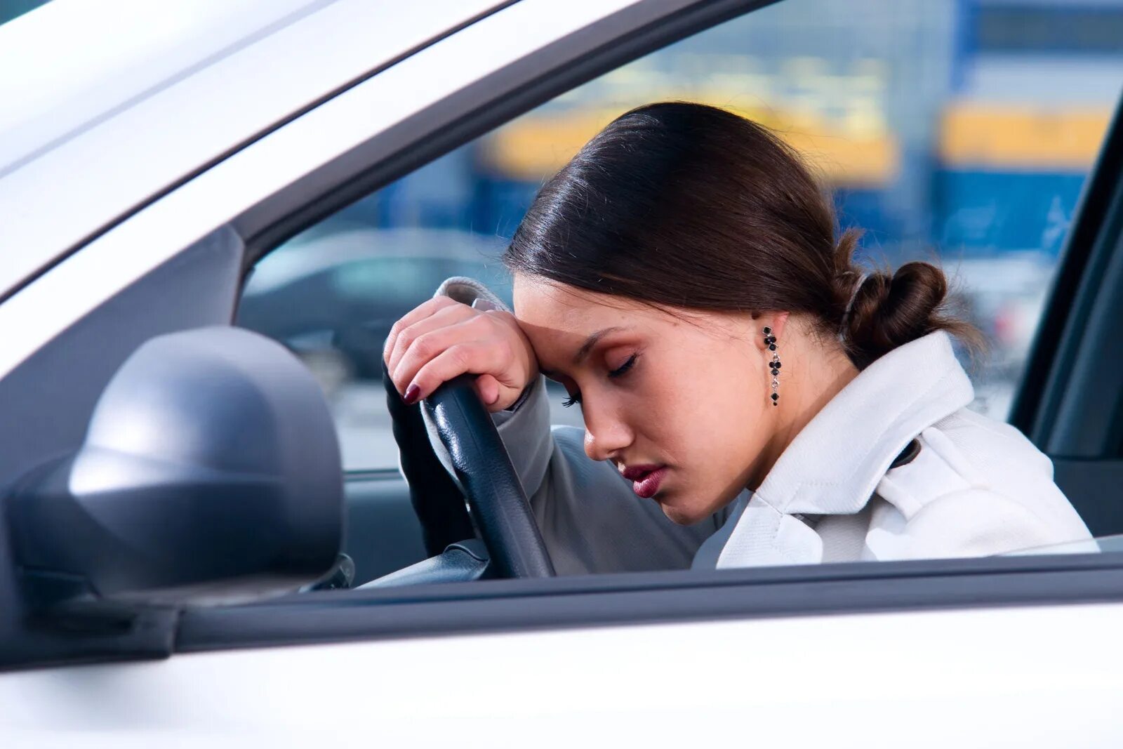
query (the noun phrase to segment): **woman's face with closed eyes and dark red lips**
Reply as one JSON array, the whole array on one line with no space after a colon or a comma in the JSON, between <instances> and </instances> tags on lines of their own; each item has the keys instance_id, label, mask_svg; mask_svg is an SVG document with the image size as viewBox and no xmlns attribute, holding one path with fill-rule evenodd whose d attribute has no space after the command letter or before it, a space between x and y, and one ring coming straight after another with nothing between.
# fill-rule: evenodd
<instances>
[{"instance_id":1,"label":"woman's face with closed eyes and dark red lips","mask_svg":"<svg viewBox=\"0 0 1123 749\"><path fill-rule=\"evenodd\" d=\"M779 410L769 400L768 320L673 314L523 275L514 309L542 373L579 400L585 453L611 460L668 518L704 519L758 472Z\"/></svg>"}]
</instances>

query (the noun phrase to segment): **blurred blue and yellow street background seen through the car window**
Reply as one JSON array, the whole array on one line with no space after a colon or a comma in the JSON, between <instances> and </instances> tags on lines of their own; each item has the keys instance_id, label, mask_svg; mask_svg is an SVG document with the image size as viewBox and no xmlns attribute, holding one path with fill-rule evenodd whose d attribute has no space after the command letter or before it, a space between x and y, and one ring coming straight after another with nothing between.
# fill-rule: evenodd
<instances>
[{"instance_id":1,"label":"blurred blue and yellow street background seen through the car window","mask_svg":"<svg viewBox=\"0 0 1123 749\"><path fill-rule=\"evenodd\" d=\"M1077 7L1078 6L1078 7ZM937 259L990 346L974 408L1008 411L1123 83L1123 0L787 0L620 67L387 185L268 255L240 322L298 350L348 468L396 463L378 381L393 320L497 262L536 190L631 107L685 99L778 130L862 253ZM555 420L578 423L578 409Z\"/></svg>"}]
</instances>

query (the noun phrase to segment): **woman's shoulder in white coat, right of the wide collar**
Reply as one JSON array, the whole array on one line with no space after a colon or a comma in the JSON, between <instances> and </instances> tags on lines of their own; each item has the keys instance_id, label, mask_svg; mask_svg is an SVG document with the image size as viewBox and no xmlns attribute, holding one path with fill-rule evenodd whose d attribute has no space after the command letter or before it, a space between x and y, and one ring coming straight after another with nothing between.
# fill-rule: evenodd
<instances>
[{"instance_id":1,"label":"woman's shoulder in white coat, right of the wide collar","mask_svg":"<svg viewBox=\"0 0 1123 749\"><path fill-rule=\"evenodd\" d=\"M917 440L916 457L878 484L894 512L875 519L871 549L986 556L1088 538L1052 481L1052 462L1014 427L960 409Z\"/></svg>"}]
</instances>

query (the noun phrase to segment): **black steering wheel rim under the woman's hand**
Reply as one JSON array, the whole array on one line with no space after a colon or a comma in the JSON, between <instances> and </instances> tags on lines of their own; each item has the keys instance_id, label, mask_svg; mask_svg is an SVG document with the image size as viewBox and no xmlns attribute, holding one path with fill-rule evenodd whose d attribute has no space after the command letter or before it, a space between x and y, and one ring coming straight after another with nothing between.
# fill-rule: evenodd
<instances>
[{"instance_id":1,"label":"black steering wheel rim under the woman's hand","mask_svg":"<svg viewBox=\"0 0 1123 749\"><path fill-rule=\"evenodd\" d=\"M553 577L554 564L511 457L480 401L474 375L460 375L422 401L453 458L472 519L500 577Z\"/></svg>"}]
</instances>

